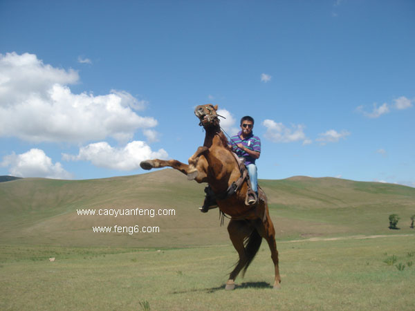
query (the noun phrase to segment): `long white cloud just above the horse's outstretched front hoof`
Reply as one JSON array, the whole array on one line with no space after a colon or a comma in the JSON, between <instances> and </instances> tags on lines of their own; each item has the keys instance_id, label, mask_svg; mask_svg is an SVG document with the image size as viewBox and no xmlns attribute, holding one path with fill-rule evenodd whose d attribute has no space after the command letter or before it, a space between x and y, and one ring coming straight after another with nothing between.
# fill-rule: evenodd
<instances>
[{"instance_id":1,"label":"long white cloud just above the horse's outstretched front hoof","mask_svg":"<svg viewBox=\"0 0 415 311\"><path fill-rule=\"evenodd\" d=\"M123 148L111 147L107 142L95 142L81 147L77 156L63 154L66 161L91 161L96 167L133 171L140 168L142 160L159 158L167 159L164 149L151 151L148 144L142 141L133 141Z\"/></svg>"}]
</instances>

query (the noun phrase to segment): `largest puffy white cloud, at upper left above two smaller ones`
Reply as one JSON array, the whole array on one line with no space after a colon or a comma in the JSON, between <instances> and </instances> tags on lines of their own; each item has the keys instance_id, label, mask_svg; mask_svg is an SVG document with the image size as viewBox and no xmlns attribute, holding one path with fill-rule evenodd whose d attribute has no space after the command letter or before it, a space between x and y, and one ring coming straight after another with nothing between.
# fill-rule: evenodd
<instances>
[{"instance_id":1,"label":"largest puffy white cloud, at upper left above two smaller ones","mask_svg":"<svg viewBox=\"0 0 415 311\"><path fill-rule=\"evenodd\" d=\"M54 68L25 53L0 54L0 136L30 142L86 142L107 137L126 142L137 129L157 125L135 111L147 102L125 91L73 94L74 70Z\"/></svg>"}]
</instances>

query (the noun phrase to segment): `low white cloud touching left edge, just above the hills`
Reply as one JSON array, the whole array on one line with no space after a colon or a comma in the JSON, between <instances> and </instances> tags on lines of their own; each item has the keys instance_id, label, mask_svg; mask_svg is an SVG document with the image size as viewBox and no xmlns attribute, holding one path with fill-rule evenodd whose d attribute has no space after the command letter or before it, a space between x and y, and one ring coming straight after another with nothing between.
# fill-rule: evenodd
<instances>
[{"instance_id":1,"label":"low white cloud touching left edge, just above the hills","mask_svg":"<svg viewBox=\"0 0 415 311\"><path fill-rule=\"evenodd\" d=\"M43 150L30 149L26 153L16 155L12 153L3 158L2 167L9 167L9 173L18 177L44 177L54 179L71 179L71 173L68 173L62 167L62 164L52 163Z\"/></svg>"}]
</instances>

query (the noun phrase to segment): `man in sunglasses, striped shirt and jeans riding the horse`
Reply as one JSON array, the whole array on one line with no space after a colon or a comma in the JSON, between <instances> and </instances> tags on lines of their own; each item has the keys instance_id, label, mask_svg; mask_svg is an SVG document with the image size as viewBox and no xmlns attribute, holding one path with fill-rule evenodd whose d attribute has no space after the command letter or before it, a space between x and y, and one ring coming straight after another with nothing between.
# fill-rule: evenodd
<instances>
[{"instance_id":1,"label":"man in sunglasses, striped shirt and jeans riding the horse","mask_svg":"<svg viewBox=\"0 0 415 311\"><path fill-rule=\"evenodd\" d=\"M230 138L230 147L237 153L239 158L245 160L244 164L248 169L249 179L252 186L252 191L258 195L258 182L257 182L257 166L255 165L255 160L261 155L261 140L259 137L254 136L252 130L254 128L254 119L249 115L241 118L241 131L237 135ZM205 188L205 201L203 202L203 207L199 209L205 213L209 209L217 207L216 200L214 199L214 194L210 187ZM257 198L248 195L248 204L255 204Z\"/></svg>"}]
</instances>

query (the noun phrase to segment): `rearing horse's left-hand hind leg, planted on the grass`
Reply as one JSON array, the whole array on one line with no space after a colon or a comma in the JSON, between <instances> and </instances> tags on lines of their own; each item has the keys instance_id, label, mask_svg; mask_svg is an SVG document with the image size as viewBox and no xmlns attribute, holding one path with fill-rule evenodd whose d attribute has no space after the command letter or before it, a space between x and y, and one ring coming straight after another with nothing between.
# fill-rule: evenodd
<instances>
[{"instance_id":1,"label":"rearing horse's left-hand hind leg, planted on the grass","mask_svg":"<svg viewBox=\"0 0 415 311\"><path fill-rule=\"evenodd\" d=\"M237 262L236 267L234 267L234 270L230 272L228 282L226 282L225 290L233 290L235 288L234 281L248 261L248 256L246 254L246 249L243 245L243 241L247 236L250 235L253 229L254 228L250 227L250 225L243 220L231 219L229 222L228 232L230 241L232 241L234 248L239 254L239 261Z\"/></svg>"}]
</instances>

